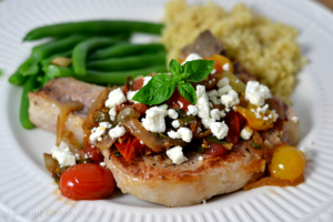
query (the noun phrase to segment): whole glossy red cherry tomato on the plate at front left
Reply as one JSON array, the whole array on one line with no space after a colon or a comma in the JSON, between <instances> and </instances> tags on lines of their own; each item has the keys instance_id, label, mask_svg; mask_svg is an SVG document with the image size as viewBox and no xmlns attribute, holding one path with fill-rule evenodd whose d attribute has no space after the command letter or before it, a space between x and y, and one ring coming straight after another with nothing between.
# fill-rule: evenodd
<instances>
[{"instance_id":1,"label":"whole glossy red cherry tomato on the plate at front left","mask_svg":"<svg viewBox=\"0 0 333 222\"><path fill-rule=\"evenodd\" d=\"M112 172L94 163L81 163L64 171L60 178L60 192L71 200L98 200L113 193Z\"/></svg>"}]
</instances>

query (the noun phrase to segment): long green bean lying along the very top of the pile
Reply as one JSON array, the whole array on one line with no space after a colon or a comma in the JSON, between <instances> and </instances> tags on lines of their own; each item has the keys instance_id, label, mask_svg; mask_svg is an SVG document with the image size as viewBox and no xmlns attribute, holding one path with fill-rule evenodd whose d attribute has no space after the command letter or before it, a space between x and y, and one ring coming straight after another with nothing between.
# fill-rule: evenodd
<instances>
[{"instance_id":1,"label":"long green bean lying along the very top of the pile","mask_svg":"<svg viewBox=\"0 0 333 222\"><path fill-rule=\"evenodd\" d=\"M128 32L143 32L151 34L160 34L163 29L161 23L141 22L141 21L81 21L68 22L40 27L31 30L24 41L42 39L46 37L59 38L67 37L72 33L88 36L109 36Z\"/></svg>"}]
</instances>

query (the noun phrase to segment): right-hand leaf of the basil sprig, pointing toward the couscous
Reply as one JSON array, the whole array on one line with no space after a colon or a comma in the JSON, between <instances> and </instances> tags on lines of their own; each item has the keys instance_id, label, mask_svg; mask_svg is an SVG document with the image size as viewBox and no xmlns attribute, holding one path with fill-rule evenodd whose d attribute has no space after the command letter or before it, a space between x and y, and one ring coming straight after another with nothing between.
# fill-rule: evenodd
<instances>
[{"instance_id":1,"label":"right-hand leaf of the basil sprig, pointing toward the couscous","mask_svg":"<svg viewBox=\"0 0 333 222\"><path fill-rule=\"evenodd\" d=\"M182 73L190 73L185 79L190 82L200 82L204 80L213 70L214 61L212 60L193 60L182 65Z\"/></svg>"}]
</instances>

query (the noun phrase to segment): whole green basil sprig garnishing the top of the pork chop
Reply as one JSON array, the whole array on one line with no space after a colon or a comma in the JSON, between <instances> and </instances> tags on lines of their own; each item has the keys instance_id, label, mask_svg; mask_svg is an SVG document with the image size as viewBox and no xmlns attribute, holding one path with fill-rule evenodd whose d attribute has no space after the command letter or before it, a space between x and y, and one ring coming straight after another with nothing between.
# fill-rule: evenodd
<instances>
[{"instance_id":1,"label":"whole green basil sprig garnishing the top of the pork chop","mask_svg":"<svg viewBox=\"0 0 333 222\"><path fill-rule=\"evenodd\" d=\"M175 87L183 98L195 103L195 90L189 82L200 82L212 71L214 61L193 60L181 65L176 60L169 63L171 75L157 74L145 84L132 100L144 104L160 104L168 100Z\"/></svg>"}]
</instances>

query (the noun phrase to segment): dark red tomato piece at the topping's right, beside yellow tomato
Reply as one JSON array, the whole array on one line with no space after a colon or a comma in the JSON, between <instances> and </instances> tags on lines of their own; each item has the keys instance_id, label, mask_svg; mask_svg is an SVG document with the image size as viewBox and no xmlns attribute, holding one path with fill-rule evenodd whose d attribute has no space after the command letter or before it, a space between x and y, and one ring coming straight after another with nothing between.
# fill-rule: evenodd
<instances>
[{"instance_id":1,"label":"dark red tomato piece at the topping's right, beside yellow tomato","mask_svg":"<svg viewBox=\"0 0 333 222\"><path fill-rule=\"evenodd\" d=\"M244 119L238 112L230 111L226 114L225 124L228 125L229 131L228 131L228 135L225 137L225 139L229 142L236 144L240 141L240 133L241 133L241 130L243 129L243 121L244 121Z\"/></svg>"}]
</instances>

